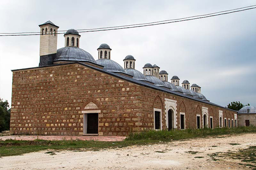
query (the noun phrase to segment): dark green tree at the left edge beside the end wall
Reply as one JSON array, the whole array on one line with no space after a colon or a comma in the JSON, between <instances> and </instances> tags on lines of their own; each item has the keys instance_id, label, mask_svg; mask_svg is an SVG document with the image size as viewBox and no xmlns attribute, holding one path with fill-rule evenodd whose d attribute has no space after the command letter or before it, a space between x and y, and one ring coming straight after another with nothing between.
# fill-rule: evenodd
<instances>
[{"instance_id":1,"label":"dark green tree at the left edge beside the end wall","mask_svg":"<svg viewBox=\"0 0 256 170\"><path fill-rule=\"evenodd\" d=\"M0 98L0 132L10 130L11 109L8 101L3 102Z\"/></svg>"}]
</instances>

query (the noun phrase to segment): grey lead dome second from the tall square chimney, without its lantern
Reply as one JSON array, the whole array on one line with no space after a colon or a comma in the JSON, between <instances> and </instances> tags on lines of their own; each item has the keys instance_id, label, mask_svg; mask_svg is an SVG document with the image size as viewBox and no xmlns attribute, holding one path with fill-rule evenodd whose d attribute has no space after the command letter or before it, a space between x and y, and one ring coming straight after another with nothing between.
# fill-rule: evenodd
<instances>
[{"instance_id":1,"label":"grey lead dome second from the tall square chimney, without its lantern","mask_svg":"<svg viewBox=\"0 0 256 170\"><path fill-rule=\"evenodd\" d=\"M103 70L115 73L125 73L125 70L117 62L110 59L99 59L96 60L96 63L104 66Z\"/></svg>"}]
</instances>

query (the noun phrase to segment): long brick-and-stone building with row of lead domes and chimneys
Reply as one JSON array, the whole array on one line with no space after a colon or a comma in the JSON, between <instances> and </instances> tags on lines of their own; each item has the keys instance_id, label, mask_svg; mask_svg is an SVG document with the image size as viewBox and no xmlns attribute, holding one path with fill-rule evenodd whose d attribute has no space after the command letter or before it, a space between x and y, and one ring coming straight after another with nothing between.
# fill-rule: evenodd
<instances>
[{"instance_id":1,"label":"long brick-and-stone building with row of lead domes and chimneys","mask_svg":"<svg viewBox=\"0 0 256 170\"><path fill-rule=\"evenodd\" d=\"M13 134L126 136L154 129L233 127L237 121L236 111L211 103L188 80L180 86L173 76L169 82L157 65L145 64L142 74L127 55L122 67L111 60L107 44L99 46L95 60L80 48L81 35L74 29L57 49L59 27L51 21L39 27L39 66L12 71Z\"/></svg>"}]
</instances>

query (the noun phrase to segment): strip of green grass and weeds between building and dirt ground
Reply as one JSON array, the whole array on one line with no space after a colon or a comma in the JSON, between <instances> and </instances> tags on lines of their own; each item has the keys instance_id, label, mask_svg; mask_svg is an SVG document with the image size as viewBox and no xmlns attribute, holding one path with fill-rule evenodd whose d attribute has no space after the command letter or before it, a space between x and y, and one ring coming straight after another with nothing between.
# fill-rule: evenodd
<instances>
[{"instance_id":1,"label":"strip of green grass and weeds between building and dirt ground","mask_svg":"<svg viewBox=\"0 0 256 170\"><path fill-rule=\"evenodd\" d=\"M103 141L82 141L82 140L0 140L0 157L21 155L42 150L72 150L99 151L101 149L122 148L131 145L144 145L170 142L172 140L191 139L196 137L208 137L225 134L256 133L256 127L239 128L216 128L216 129L185 129L185 130L161 130L131 133L124 141L103 142ZM49 153L51 154L51 153ZM53 153L52 153L53 154Z\"/></svg>"}]
</instances>

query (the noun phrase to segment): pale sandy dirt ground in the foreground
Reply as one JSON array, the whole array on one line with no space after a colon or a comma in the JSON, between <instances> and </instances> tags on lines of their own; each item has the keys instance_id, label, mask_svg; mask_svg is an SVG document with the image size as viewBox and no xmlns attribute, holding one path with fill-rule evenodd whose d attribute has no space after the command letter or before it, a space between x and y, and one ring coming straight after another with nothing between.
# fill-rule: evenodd
<instances>
[{"instance_id":1,"label":"pale sandy dirt ground in the foreground","mask_svg":"<svg viewBox=\"0 0 256 170\"><path fill-rule=\"evenodd\" d=\"M56 155L40 151L2 157L0 169L249 169L239 165L240 160L216 161L208 154L236 152L255 145L256 134L243 134L100 151L53 151Z\"/></svg>"}]
</instances>

